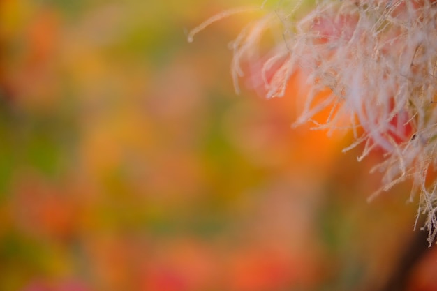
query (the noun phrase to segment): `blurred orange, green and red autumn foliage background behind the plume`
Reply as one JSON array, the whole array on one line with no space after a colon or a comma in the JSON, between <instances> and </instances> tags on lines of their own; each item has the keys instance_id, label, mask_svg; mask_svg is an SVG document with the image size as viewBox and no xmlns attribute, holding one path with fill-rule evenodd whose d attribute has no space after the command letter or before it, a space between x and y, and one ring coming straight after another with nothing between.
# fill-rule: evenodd
<instances>
[{"instance_id":1,"label":"blurred orange, green and red autumn foliage background behind the plume","mask_svg":"<svg viewBox=\"0 0 437 291\"><path fill-rule=\"evenodd\" d=\"M0 0L0 290L377 290L416 204L291 128L284 98L235 94L228 43L255 1ZM426 243L426 241L425 241ZM431 248L408 290L437 290Z\"/></svg>"}]
</instances>

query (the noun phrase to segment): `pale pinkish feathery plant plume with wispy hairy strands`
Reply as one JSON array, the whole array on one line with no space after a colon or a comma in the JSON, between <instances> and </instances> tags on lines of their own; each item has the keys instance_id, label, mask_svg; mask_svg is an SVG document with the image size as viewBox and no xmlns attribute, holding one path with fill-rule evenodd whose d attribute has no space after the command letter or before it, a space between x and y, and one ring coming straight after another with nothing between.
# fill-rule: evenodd
<instances>
[{"instance_id":1,"label":"pale pinkish feathery plant plume with wispy hairy strands","mask_svg":"<svg viewBox=\"0 0 437 291\"><path fill-rule=\"evenodd\" d=\"M256 85L272 98L285 94L295 72L304 72L311 91L296 123L334 107L326 123L316 127L353 130L356 142L344 150L363 143L359 160L376 147L384 149L385 161L375 167L385 173L380 191L413 179L411 200L420 193L417 217L427 216L424 229L431 244L437 234L437 179L425 178L437 164L437 5L428 0L320 0L307 10L300 2L273 4L271 12L239 34L232 47L235 84L244 74L242 63L262 61L258 68L265 77ZM267 31L280 32L271 49L260 52ZM326 88L332 95L316 99ZM411 136L394 138L403 136L403 124L394 124L394 117L413 128Z\"/></svg>"}]
</instances>

